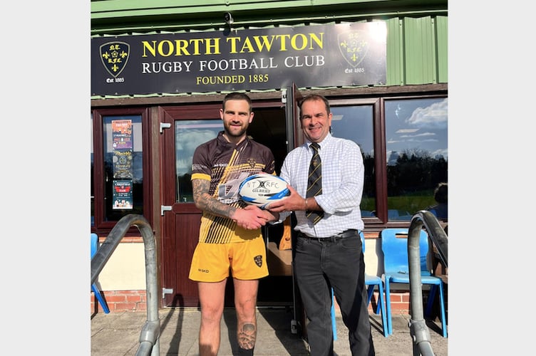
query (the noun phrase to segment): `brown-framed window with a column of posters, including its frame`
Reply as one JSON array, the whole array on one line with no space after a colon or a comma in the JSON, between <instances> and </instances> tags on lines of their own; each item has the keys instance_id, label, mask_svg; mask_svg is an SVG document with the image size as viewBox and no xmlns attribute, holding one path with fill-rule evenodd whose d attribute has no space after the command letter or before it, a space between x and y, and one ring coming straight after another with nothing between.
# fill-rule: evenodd
<instances>
[{"instance_id":1,"label":"brown-framed window with a column of posters, including its frame","mask_svg":"<svg viewBox=\"0 0 536 356\"><path fill-rule=\"evenodd\" d=\"M109 228L125 215L147 211L145 111L130 108L93 112L91 221L96 228Z\"/></svg>"}]
</instances>

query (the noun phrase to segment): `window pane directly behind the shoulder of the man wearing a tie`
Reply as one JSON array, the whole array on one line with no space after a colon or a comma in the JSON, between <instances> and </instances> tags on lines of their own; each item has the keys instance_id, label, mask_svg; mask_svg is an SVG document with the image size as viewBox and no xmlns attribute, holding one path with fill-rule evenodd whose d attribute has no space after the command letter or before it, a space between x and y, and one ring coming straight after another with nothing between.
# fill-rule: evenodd
<instances>
[{"instance_id":1,"label":"window pane directly behind the shoulder of the man wearing a tie","mask_svg":"<svg viewBox=\"0 0 536 356\"><path fill-rule=\"evenodd\" d=\"M361 216L372 216L376 210L376 178L374 174L373 106L331 107L331 134L356 142L361 147L365 166L365 184L361 199Z\"/></svg>"}]
</instances>

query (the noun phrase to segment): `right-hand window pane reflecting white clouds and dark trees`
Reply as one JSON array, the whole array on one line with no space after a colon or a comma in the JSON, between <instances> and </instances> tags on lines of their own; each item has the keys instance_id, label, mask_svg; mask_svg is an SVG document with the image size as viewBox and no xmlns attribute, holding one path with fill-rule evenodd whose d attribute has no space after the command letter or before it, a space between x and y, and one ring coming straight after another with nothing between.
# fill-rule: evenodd
<instances>
[{"instance_id":1,"label":"right-hand window pane reflecting white clouds and dark trees","mask_svg":"<svg viewBox=\"0 0 536 356\"><path fill-rule=\"evenodd\" d=\"M436 203L448 178L448 98L385 104L388 219L411 220Z\"/></svg>"}]
</instances>

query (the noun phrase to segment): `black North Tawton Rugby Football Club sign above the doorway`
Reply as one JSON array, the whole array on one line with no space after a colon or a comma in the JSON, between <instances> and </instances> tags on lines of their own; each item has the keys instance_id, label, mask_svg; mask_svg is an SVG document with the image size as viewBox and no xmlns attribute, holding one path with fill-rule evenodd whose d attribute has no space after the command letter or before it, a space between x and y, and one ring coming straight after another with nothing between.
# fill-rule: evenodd
<instances>
[{"instance_id":1,"label":"black North Tawton Rugby Football Club sign above the doorway","mask_svg":"<svg viewBox=\"0 0 536 356\"><path fill-rule=\"evenodd\" d=\"M386 83L386 23L91 38L91 95Z\"/></svg>"}]
</instances>

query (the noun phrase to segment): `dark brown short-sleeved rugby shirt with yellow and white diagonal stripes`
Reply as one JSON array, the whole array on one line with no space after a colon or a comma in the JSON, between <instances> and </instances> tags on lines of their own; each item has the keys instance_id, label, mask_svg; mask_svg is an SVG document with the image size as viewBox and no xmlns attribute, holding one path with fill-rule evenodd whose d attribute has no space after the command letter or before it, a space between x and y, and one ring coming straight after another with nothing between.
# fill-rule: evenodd
<instances>
[{"instance_id":1,"label":"dark brown short-sleeved rugby shirt with yellow and white diagonal stripes","mask_svg":"<svg viewBox=\"0 0 536 356\"><path fill-rule=\"evenodd\" d=\"M195 149L192 158L192 180L210 180L209 194L225 204L244 207L238 187L252 174L275 174L274 155L268 147L249 139L238 145L227 142L220 131L213 140ZM242 229L222 216L203 211L199 241L208 244L227 244L262 236L261 230Z\"/></svg>"}]
</instances>

